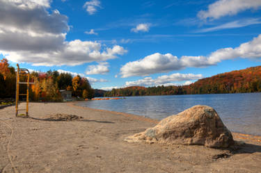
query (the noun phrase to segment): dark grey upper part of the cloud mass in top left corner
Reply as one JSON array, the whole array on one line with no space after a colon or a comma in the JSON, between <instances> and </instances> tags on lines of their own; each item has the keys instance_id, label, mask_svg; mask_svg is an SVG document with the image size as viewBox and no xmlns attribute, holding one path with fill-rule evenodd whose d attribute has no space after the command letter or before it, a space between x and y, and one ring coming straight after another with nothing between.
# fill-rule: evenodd
<instances>
[{"instance_id":1,"label":"dark grey upper part of the cloud mass in top left corner","mask_svg":"<svg viewBox=\"0 0 261 173\"><path fill-rule=\"evenodd\" d=\"M48 1L0 1L0 27L15 33L26 31L32 36L41 33L60 34L69 31L68 17L58 10L51 14Z\"/></svg>"}]
</instances>

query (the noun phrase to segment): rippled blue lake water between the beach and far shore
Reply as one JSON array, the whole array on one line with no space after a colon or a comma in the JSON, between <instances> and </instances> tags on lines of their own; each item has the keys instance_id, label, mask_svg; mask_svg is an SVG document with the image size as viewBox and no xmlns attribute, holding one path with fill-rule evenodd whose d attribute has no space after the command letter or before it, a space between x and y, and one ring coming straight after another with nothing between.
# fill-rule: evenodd
<instances>
[{"instance_id":1,"label":"rippled blue lake water between the beach and far shore","mask_svg":"<svg viewBox=\"0 0 261 173\"><path fill-rule=\"evenodd\" d=\"M211 106L233 132L261 135L261 93L126 97L78 104L161 120L195 105Z\"/></svg>"}]
</instances>

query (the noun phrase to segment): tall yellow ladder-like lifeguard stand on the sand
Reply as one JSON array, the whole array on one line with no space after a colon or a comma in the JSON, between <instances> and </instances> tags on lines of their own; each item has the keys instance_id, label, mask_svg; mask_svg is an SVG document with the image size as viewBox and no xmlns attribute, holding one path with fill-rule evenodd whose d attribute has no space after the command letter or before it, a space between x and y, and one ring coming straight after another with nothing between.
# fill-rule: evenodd
<instances>
[{"instance_id":1,"label":"tall yellow ladder-like lifeguard stand on the sand","mask_svg":"<svg viewBox=\"0 0 261 173\"><path fill-rule=\"evenodd\" d=\"M20 76L27 76L26 81L20 81ZM30 72L28 69L25 68L19 68L19 65L17 64L17 74L16 74L16 95L15 95L15 116L18 117L18 111L19 110L26 110L25 117L29 117L29 85L33 84L29 82L30 79ZM19 85L26 85L26 94L19 94ZM26 96L26 108L25 109L18 109L19 104L19 96Z\"/></svg>"}]
</instances>

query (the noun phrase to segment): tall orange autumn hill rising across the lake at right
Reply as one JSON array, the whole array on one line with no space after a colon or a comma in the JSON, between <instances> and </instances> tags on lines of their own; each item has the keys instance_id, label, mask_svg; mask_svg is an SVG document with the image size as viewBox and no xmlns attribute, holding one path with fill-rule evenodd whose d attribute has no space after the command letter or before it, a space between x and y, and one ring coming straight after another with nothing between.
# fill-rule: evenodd
<instances>
[{"instance_id":1,"label":"tall orange autumn hill rising across the lake at right","mask_svg":"<svg viewBox=\"0 0 261 173\"><path fill-rule=\"evenodd\" d=\"M200 79L184 89L190 90L190 94L261 92L261 66Z\"/></svg>"}]
</instances>

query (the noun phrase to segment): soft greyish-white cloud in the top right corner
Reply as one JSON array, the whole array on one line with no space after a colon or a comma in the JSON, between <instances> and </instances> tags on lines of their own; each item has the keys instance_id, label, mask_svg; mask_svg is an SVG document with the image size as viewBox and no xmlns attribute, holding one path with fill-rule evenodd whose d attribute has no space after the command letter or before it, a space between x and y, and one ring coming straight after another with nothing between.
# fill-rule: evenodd
<instances>
[{"instance_id":1,"label":"soft greyish-white cloud in the top right corner","mask_svg":"<svg viewBox=\"0 0 261 173\"><path fill-rule=\"evenodd\" d=\"M236 15L248 9L258 9L261 6L260 0L219 0L208 6L207 10L200 10L200 19L219 19L226 15Z\"/></svg>"}]
</instances>

